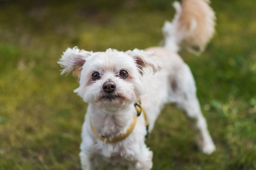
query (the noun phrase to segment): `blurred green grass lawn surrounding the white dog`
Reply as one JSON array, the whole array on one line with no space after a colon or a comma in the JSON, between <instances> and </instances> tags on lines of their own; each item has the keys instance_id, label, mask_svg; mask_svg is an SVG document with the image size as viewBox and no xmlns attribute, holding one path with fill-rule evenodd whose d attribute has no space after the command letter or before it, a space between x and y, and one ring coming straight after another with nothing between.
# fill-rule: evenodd
<instances>
[{"instance_id":1,"label":"blurred green grass lawn surrounding the white dog","mask_svg":"<svg viewBox=\"0 0 256 170\"><path fill-rule=\"evenodd\" d=\"M0 170L79 170L87 105L73 93L78 82L59 74L58 59L73 46L157 45L171 2L0 1ZM153 170L256 169L256 1L214 0L212 7L216 34L206 51L181 55L217 151L199 152L184 115L167 104L147 141Z\"/></svg>"}]
</instances>

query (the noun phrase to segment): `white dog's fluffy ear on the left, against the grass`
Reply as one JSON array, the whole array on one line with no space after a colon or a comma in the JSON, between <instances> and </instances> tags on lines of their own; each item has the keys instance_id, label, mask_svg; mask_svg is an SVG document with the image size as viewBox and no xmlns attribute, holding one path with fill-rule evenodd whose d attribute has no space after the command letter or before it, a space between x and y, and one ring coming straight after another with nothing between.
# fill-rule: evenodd
<instances>
[{"instance_id":1,"label":"white dog's fluffy ear on the left, against the grass","mask_svg":"<svg viewBox=\"0 0 256 170\"><path fill-rule=\"evenodd\" d=\"M58 64L63 67L61 75L73 71L73 76L80 77L81 67L85 64L86 58L92 55L92 53L92 51L79 50L77 47L74 47L73 49L67 48L61 59L58 61Z\"/></svg>"}]
</instances>

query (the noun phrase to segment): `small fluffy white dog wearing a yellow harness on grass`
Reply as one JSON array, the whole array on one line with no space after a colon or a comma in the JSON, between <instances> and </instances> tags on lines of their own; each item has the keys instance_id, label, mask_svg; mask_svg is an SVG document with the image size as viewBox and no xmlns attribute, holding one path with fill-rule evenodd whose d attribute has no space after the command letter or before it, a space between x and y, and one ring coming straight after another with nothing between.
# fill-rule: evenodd
<instances>
[{"instance_id":1,"label":"small fluffy white dog wearing a yellow harness on grass","mask_svg":"<svg viewBox=\"0 0 256 170\"><path fill-rule=\"evenodd\" d=\"M83 170L98 170L104 163L150 170L153 152L144 138L166 102L177 103L193 120L202 152L215 150L193 76L177 54L180 47L204 50L214 32L215 15L208 0L183 0L174 7L173 22L163 27L164 47L126 52L74 47L63 53L58 62L64 67L61 74L73 71L80 78L74 92L88 103L80 152Z\"/></svg>"}]
</instances>

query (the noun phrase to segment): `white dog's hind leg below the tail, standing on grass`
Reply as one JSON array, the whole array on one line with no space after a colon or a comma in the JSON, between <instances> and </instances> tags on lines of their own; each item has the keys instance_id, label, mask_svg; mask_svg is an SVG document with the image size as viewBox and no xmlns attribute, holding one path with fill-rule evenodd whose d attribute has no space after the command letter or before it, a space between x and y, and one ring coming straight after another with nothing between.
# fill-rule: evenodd
<instances>
[{"instance_id":1,"label":"white dog's hind leg below the tail, standing on grass","mask_svg":"<svg viewBox=\"0 0 256 170\"><path fill-rule=\"evenodd\" d=\"M215 150L215 146L207 130L207 122L200 110L193 75L186 64L180 67L177 74L171 79L170 97L177 102L179 108L184 110L186 116L193 124L200 150L211 154Z\"/></svg>"}]
</instances>

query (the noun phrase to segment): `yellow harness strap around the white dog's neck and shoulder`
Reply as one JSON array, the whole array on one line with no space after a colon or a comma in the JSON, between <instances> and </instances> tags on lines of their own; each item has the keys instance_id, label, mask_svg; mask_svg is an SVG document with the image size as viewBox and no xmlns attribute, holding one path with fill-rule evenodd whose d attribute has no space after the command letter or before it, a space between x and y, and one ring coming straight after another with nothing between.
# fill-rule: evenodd
<instances>
[{"instance_id":1,"label":"yellow harness strap around the white dog's neck and shoulder","mask_svg":"<svg viewBox=\"0 0 256 170\"><path fill-rule=\"evenodd\" d=\"M147 115L146 115L144 109L143 109L142 106L141 106L140 99L135 102L134 106L135 106L136 111L137 111L137 116L135 116L135 117L133 118L132 124L130 125L130 127L127 129L127 131L126 131L125 133L123 133L123 134L121 134L121 135L119 135L119 136L117 136L117 137L115 137L115 138L112 138L112 139L108 139L108 138L102 137L102 136L100 136L100 135L98 135L98 134L96 133L96 131L95 131L95 129L94 129L94 127L92 126L92 123L91 123L91 121L90 121L90 126L91 126L91 128L92 128L92 132L94 133L94 135L97 136L97 137L98 137L99 139L101 139L102 141L105 141L105 142L107 142L107 143L114 143L114 142L121 141L121 140L125 139L126 137L128 137L128 136L132 133L132 131L133 131L133 129L134 129L136 123L137 123L137 117L139 117L139 115L140 115L141 112L142 112L143 115L144 115L145 126L146 126L146 130L147 130L147 134L146 134L145 138L147 139L147 138L148 138L148 119L147 119Z\"/></svg>"}]
</instances>

